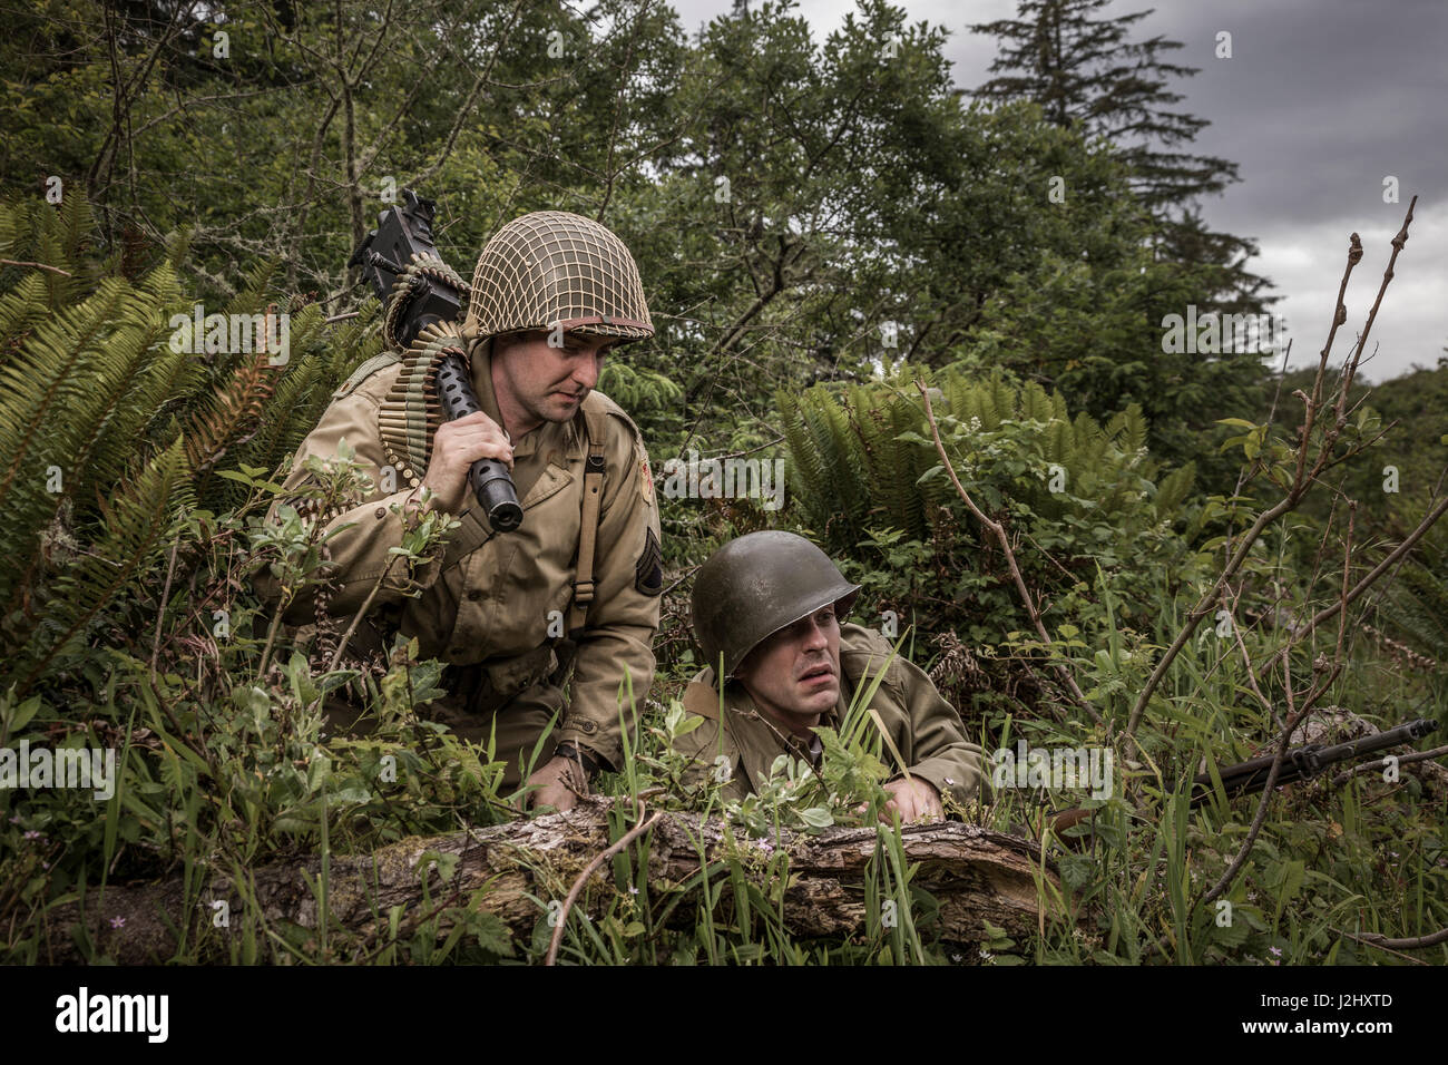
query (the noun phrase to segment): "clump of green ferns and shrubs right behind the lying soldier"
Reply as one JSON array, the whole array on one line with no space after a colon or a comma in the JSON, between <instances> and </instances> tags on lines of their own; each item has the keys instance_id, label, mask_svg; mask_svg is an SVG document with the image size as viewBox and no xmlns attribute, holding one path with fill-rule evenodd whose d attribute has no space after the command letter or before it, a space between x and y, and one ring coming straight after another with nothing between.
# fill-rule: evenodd
<instances>
[{"instance_id":1,"label":"clump of green ferns and shrubs right behind the lying soldier","mask_svg":"<svg viewBox=\"0 0 1448 1065\"><path fill-rule=\"evenodd\" d=\"M970 517L943 472L914 381L854 385L844 401L825 388L780 394L796 514L847 572L924 632L967 646L999 645L1028 627L999 545ZM990 514L1009 513L1027 538L1024 575L1051 600L1048 617L1082 625L1086 598L1118 601L1127 626L1150 616L1153 598L1200 578L1192 545L1209 510L1187 503L1192 467L1163 469L1148 456L1147 426L1128 407L1102 427L1070 417L1060 394L1002 377L938 375L934 410L959 446L951 462ZM970 559L966 567L961 558ZM1083 597L1090 587L1092 596ZM1090 638L1102 633L1092 632ZM1031 671L998 661L973 685L948 691L983 709L986 693L1014 693ZM1016 703L1018 704L1018 703Z\"/></svg>"}]
</instances>

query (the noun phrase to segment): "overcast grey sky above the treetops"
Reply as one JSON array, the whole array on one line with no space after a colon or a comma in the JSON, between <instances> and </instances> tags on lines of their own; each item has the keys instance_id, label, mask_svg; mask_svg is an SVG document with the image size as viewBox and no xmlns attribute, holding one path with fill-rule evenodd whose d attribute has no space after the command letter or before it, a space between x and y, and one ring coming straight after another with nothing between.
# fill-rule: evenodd
<instances>
[{"instance_id":1,"label":"overcast grey sky above the treetops","mask_svg":"<svg viewBox=\"0 0 1448 1065\"><path fill-rule=\"evenodd\" d=\"M691 33L731 0L670 0ZM905 0L909 20L950 30L946 57L956 84L989 75L993 38L972 23L1015 16L1015 0ZM1348 235L1364 256L1348 287L1348 326L1334 362L1357 336L1392 252L1407 201L1418 207L1397 258L1368 351L1367 375L1381 381L1434 367L1448 346L1448 1L1445 0L1115 0L1106 14L1154 7L1132 39L1163 35L1184 48L1170 61L1199 67L1173 88L1179 107L1211 120L1202 155L1239 165L1241 181L1208 197L1215 229L1258 242L1250 265L1283 298L1293 365L1316 362L1326 339ZM853 0L802 0L815 39L837 26ZM1232 58L1215 58L1216 35L1232 35ZM1399 203L1383 180L1399 180Z\"/></svg>"}]
</instances>

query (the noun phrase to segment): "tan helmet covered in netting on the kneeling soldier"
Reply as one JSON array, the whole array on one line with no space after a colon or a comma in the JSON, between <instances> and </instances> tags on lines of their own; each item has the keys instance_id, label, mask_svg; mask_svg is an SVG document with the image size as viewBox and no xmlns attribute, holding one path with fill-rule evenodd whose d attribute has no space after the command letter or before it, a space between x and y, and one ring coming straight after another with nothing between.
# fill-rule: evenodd
<instances>
[{"instance_id":1,"label":"tan helmet covered in netting on the kneeling soldier","mask_svg":"<svg viewBox=\"0 0 1448 1065\"><path fill-rule=\"evenodd\" d=\"M605 226L560 210L513 219L478 256L463 322L478 336L557 329L653 336L639 267Z\"/></svg>"}]
</instances>

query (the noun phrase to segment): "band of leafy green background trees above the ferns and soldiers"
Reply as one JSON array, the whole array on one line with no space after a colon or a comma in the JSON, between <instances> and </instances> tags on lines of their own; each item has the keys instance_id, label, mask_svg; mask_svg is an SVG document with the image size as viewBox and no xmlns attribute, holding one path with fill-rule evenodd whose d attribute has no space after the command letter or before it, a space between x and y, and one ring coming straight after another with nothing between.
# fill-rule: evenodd
<instances>
[{"instance_id":1,"label":"band of leafy green background trees above the ferns and soldiers","mask_svg":"<svg viewBox=\"0 0 1448 1065\"><path fill-rule=\"evenodd\" d=\"M188 229L182 270L209 306L245 285L236 264L265 258L288 298L333 313L352 248L414 185L465 275L524 210L620 233L660 326L630 358L681 385L633 410L660 454L756 446L776 435L773 388L961 348L1098 419L1138 403L1176 462L1215 417L1260 403L1257 356L1161 352L1163 314L1229 287L1221 256L1153 251L1161 223L1098 130L1031 103L964 106L944 30L882 0L822 46L780 3L688 43L669 9L624 0L557 26L479 0L387 25L365 4L291 23L245 9L224 29L158 3L119 14L116 39L72 38L90 4L62 7L80 17L36 12L0 42L0 107L17 117L0 184L85 196L127 262ZM371 51L334 61L337 33ZM1225 481L1206 458L1199 472Z\"/></svg>"}]
</instances>

